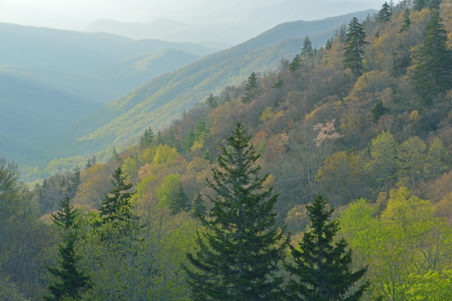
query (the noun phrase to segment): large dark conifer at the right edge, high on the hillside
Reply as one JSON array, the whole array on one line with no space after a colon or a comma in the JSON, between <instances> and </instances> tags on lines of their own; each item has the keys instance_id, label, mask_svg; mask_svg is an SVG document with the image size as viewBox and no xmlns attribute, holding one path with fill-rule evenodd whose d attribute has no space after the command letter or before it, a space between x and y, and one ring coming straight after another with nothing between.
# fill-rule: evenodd
<instances>
[{"instance_id":1,"label":"large dark conifer at the right edge, high on the hillside","mask_svg":"<svg viewBox=\"0 0 452 301\"><path fill-rule=\"evenodd\" d=\"M452 87L452 53L438 12L433 12L424 33L413 73L416 92L426 103Z\"/></svg>"}]
</instances>

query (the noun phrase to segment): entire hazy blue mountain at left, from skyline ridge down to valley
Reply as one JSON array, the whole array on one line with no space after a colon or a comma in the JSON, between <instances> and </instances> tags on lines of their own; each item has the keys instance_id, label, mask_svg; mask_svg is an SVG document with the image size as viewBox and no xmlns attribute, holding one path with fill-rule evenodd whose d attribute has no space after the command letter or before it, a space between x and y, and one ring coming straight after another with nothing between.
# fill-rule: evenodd
<instances>
[{"instance_id":1,"label":"entire hazy blue mountain at left, from skyline ridge down to valley","mask_svg":"<svg viewBox=\"0 0 452 301\"><path fill-rule=\"evenodd\" d=\"M212 50L191 43L135 41L0 23L0 157L21 164L53 158L56 135L149 80Z\"/></svg>"}]
</instances>

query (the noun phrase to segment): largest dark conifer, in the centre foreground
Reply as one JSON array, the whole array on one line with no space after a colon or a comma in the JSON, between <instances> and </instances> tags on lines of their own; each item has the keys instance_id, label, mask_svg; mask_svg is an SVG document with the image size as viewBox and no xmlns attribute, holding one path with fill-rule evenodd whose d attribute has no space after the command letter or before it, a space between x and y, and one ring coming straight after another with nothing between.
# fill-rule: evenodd
<instances>
[{"instance_id":1,"label":"largest dark conifer, in the centre foreground","mask_svg":"<svg viewBox=\"0 0 452 301\"><path fill-rule=\"evenodd\" d=\"M287 240L276 226L277 196L264 188L259 155L237 123L207 181L213 207L201 217L198 250L186 268L195 300L278 300L278 264Z\"/></svg>"}]
</instances>

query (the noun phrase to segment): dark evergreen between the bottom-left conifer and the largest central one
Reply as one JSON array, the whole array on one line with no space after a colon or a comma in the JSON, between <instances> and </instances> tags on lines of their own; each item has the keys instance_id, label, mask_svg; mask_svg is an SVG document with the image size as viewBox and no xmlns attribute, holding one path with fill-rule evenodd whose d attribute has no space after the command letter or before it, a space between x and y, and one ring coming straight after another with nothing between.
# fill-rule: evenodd
<instances>
[{"instance_id":1,"label":"dark evergreen between the bottom-left conifer and the largest central one","mask_svg":"<svg viewBox=\"0 0 452 301\"><path fill-rule=\"evenodd\" d=\"M112 184L113 189L105 196L102 207L99 209L103 223L135 220L131 204L132 184L126 183L126 176L123 175L120 167L113 173Z\"/></svg>"}]
</instances>

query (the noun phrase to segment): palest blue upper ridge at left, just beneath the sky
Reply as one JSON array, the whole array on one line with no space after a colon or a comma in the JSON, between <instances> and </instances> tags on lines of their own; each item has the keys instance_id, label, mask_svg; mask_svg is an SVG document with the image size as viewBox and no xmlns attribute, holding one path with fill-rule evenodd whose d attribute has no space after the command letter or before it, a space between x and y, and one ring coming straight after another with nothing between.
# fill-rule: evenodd
<instances>
[{"instance_id":1,"label":"palest blue upper ridge at left, just beneath the sky","mask_svg":"<svg viewBox=\"0 0 452 301\"><path fill-rule=\"evenodd\" d=\"M110 34L0 23L0 64L85 73L140 54L175 48L196 55L211 50L190 43L130 40Z\"/></svg>"}]
</instances>

